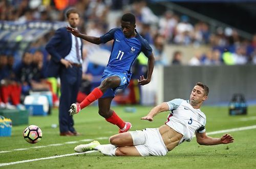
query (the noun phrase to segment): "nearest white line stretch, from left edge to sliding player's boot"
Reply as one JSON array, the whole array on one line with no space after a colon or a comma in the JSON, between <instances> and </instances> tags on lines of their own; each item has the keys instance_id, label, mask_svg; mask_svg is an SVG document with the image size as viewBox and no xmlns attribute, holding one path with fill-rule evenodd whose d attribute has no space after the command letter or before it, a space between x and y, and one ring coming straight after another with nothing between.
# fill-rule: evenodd
<instances>
[{"instance_id":1,"label":"nearest white line stretch, from left edge to sliding player's boot","mask_svg":"<svg viewBox=\"0 0 256 169\"><path fill-rule=\"evenodd\" d=\"M95 150L93 151L88 151L84 153L92 153L92 152L97 152ZM33 161L39 161L39 160L48 160L48 159L54 159L54 158L60 158L60 157L67 157L67 156L73 156L77 154L84 154L84 153L72 153L72 154L63 154L59 156L51 156L51 157L44 157L44 158L36 158L36 159L31 159L31 160L23 160L23 161L15 161L15 162L9 162L9 163L0 163L0 166L6 166L6 165L13 165L13 164L20 164L20 163L25 163L25 162L33 162Z\"/></svg>"}]
</instances>

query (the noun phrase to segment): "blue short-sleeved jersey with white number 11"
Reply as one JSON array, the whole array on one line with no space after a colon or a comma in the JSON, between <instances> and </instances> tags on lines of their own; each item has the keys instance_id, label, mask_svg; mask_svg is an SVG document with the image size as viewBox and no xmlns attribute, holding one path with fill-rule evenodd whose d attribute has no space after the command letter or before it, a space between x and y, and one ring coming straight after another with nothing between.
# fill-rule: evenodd
<instances>
[{"instance_id":1,"label":"blue short-sleeved jersey with white number 11","mask_svg":"<svg viewBox=\"0 0 256 169\"><path fill-rule=\"evenodd\" d=\"M114 28L100 37L102 43L112 39L112 52L105 68L108 72L126 73L131 76L131 67L140 52L146 57L152 54L151 46L138 33L133 38L126 38L121 28Z\"/></svg>"}]
</instances>

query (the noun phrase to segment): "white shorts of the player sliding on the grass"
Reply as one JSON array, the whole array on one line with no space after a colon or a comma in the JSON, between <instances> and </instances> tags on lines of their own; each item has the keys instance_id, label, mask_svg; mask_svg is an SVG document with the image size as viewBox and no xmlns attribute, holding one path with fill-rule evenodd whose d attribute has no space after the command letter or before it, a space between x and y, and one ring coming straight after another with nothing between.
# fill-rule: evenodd
<instances>
[{"instance_id":1,"label":"white shorts of the player sliding on the grass","mask_svg":"<svg viewBox=\"0 0 256 169\"><path fill-rule=\"evenodd\" d=\"M158 128L130 131L141 156L164 156L168 152Z\"/></svg>"}]
</instances>

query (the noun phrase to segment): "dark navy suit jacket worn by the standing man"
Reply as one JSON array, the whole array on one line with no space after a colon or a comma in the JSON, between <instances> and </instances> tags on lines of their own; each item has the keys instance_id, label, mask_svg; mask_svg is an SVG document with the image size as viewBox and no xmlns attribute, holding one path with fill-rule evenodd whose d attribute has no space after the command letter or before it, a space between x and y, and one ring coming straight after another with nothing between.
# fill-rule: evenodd
<instances>
[{"instance_id":1,"label":"dark navy suit jacket worn by the standing man","mask_svg":"<svg viewBox=\"0 0 256 169\"><path fill-rule=\"evenodd\" d=\"M81 40L81 39L80 39ZM61 68L65 66L60 63L60 59L64 59L71 51L72 37L66 27L56 30L55 35L46 44L46 51L51 55L51 60L46 69L47 77L58 77ZM82 40L81 40L82 54Z\"/></svg>"}]
</instances>

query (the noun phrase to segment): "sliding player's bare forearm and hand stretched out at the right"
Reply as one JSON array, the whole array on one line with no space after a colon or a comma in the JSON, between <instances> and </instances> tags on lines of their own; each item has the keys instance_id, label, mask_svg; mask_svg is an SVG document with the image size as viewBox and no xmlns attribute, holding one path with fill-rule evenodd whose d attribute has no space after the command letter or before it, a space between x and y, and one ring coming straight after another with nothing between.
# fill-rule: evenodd
<instances>
[{"instance_id":1,"label":"sliding player's bare forearm and hand stretched out at the right","mask_svg":"<svg viewBox=\"0 0 256 169\"><path fill-rule=\"evenodd\" d=\"M234 142L233 137L230 134L224 134L221 138L212 138L206 135L206 133L196 133L197 142L201 145L216 145L216 144L227 144Z\"/></svg>"}]
</instances>

